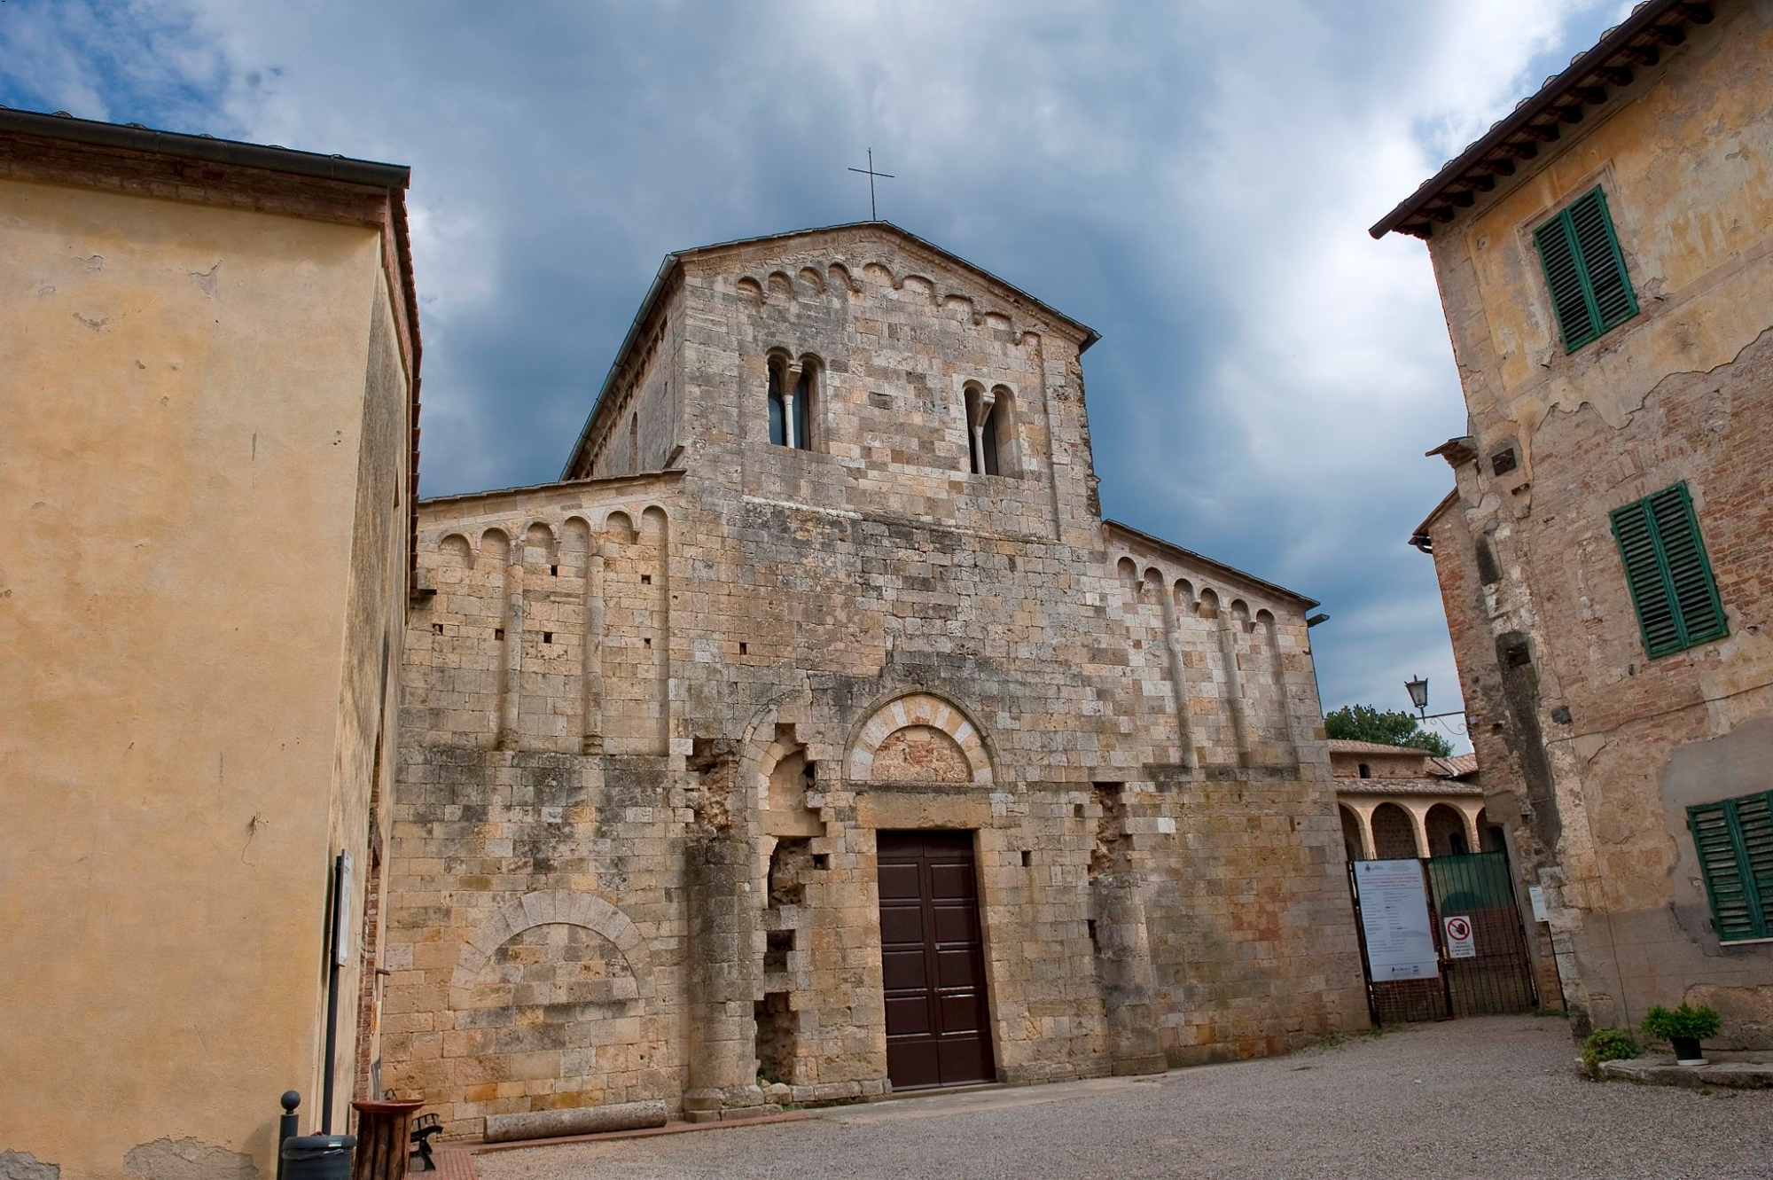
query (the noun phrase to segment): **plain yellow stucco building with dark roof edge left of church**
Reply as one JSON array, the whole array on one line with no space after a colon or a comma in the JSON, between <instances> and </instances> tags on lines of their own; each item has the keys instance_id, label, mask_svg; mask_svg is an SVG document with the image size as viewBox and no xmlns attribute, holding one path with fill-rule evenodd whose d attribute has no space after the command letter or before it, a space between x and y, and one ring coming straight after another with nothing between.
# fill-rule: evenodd
<instances>
[{"instance_id":1,"label":"plain yellow stucco building with dark roof edge left of church","mask_svg":"<svg viewBox=\"0 0 1773 1180\"><path fill-rule=\"evenodd\" d=\"M271 1175L278 1095L323 1114L335 950L344 1130L408 597L406 175L0 110L7 1176Z\"/></svg>"}]
</instances>

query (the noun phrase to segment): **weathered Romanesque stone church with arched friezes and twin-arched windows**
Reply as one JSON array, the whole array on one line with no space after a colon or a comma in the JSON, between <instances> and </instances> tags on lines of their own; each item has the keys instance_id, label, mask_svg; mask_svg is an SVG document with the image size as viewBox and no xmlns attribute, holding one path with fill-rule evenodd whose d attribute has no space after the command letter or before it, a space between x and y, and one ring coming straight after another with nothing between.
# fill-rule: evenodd
<instances>
[{"instance_id":1,"label":"weathered Romanesque stone church with arched friezes and twin-arched windows","mask_svg":"<svg viewBox=\"0 0 1773 1180\"><path fill-rule=\"evenodd\" d=\"M388 1090L711 1120L1367 1024L1314 602L1101 517L1094 340L886 223L690 250L558 482L420 503Z\"/></svg>"}]
</instances>

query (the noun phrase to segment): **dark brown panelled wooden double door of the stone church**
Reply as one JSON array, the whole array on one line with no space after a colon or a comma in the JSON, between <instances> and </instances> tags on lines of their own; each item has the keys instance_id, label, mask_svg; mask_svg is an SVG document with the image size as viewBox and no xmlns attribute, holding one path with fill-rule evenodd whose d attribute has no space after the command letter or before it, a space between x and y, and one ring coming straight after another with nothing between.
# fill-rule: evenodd
<instances>
[{"instance_id":1,"label":"dark brown panelled wooden double door of the stone church","mask_svg":"<svg viewBox=\"0 0 1773 1180\"><path fill-rule=\"evenodd\" d=\"M876 849L894 1090L993 1081L973 833L881 831Z\"/></svg>"}]
</instances>

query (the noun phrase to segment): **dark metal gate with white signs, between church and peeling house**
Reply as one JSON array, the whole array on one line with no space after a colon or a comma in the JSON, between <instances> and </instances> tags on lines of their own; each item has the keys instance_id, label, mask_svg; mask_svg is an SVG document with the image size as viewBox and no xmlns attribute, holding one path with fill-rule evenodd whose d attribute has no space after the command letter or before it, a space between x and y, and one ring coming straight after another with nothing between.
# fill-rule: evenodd
<instances>
[{"instance_id":1,"label":"dark metal gate with white signs, between church and peeling house","mask_svg":"<svg viewBox=\"0 0 1773 1180\"><path fill-rule=\"evenodd\" d=\"M1367 966L1367 932L1360 930L1362 969L1376 1024L1445 1021L1463 1015L1530 1012L1539 996L1527 955L1527 928L1514 904L1507 852L1470 852L1420 861L1427 884L1429 918L1440 959L1434 980L1372 980ZM1355 925L1360 927L1360 895L1349 865ZM1447 948L1447 918L1472 923L1470 959L1452 959Z\"/></svg>"}]
</instances>

